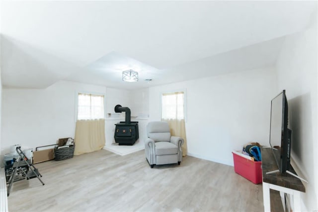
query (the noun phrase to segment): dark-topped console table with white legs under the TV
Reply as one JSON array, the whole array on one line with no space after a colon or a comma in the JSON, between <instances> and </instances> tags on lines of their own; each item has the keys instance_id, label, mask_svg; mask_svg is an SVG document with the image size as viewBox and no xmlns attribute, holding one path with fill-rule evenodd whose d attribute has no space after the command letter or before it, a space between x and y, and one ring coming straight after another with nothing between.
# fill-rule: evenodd
<instances>
[{"instance_id":1,"label":"dark-topped console table with white legs under the TV","mask_svg":"<svg viewBox=\"0 0 318 212\"><path fill-rule=\"evenodd\" d=\"M283 206L285 205L285 193L290 194L293 198L293 211L301 211L301 198L300 193L305 192L305 186L301 180L288 174L288 173L273 173L266 174L267 172L278 169L274 155L270 148L262 147L262 175L263 175L263 201L264 211L270 212L270 195L269 190L273 189L280 192ZM290 172L296 174L291 166ZM296 174L297 175L297 174ZM285 206L284 206L285 208Z\"/></svg>"}]
</instances>

